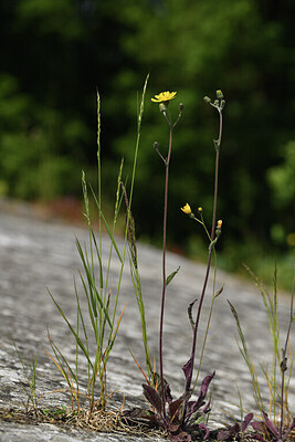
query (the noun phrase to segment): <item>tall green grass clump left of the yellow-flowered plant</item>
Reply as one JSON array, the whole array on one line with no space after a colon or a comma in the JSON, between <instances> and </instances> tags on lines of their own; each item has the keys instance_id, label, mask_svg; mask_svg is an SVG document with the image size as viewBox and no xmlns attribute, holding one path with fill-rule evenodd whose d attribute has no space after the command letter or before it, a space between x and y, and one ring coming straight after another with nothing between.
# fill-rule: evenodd
<instances>
[{"instance_id":1,"label":"tall green grass clump left of the yellow-flowered plant","mask_svg":"<svg viewBox=\"0 0 295 442\"><path fill-rule=\"evenodd\" d=\"M75 327L70 323L62 307L59 305L53 295L50 293L50 296L52 297L56 308L59 309L60 314L67 324L72 335L74 336L76 345L75 369L71 367L70 362L67 361L63 352L50 338L50 345L54 352L54 358L52 357L52 359L56 365L56 367L63 373L69 385L72 402L75 401L77 403L77 408L80 409L80 396L82 394L81 381L80 381L80 370L81 370L80 354L84 356L84 359L86 360L87 365L87 377L88 377L87 392L85 396L88 398L91 412L95 408L105 409L106 398L107 398L107 392L106 392L107 361L112 352L113 346L115 344L120 320L124 314L124 309L126 307L125 306L120 313L117 312L123 271L125 265L128 225L130 220L130 204L134 192L134 183L135 183L136 166L137 166L139 139L140 139L140 127L144 113L144 101L146 95L147 82L148 82L148 76L144 85L140 109L137 118L138 122L137 139L135 145L130 190L128 196L129 206L126 217L127 220L126 220L123 251L119 251L119 246L115 239L115 231L123 200L120 183L123 180L124 161L122 160L118 171L114 218L112 225L109 225L103 212L103 201L102 201L101 98L97 92L97 169L98 169L97 194L94 192L92 186L87 185L85 173L82 172L82 189L83 189L84 209L85 209L84 214L88 225L88 245L86 246L86 244L82 244L76 239L76 246L83 267L83 272L80 272L80 278L86 299L87 316L85 315L82 308L81 295L77 292L76 284L74 284L76 306L77 306ZM98 211L98 241L96 239L93 228L92 214L89 210L88 189L91 190L91 196L93 197ZM102 229L103 224L105 225L109 239L109 248L106 254L104 253L103 250L103 229ZM116 288L113 295L112 288L109 287L110 284L109 277L110 277L110 265L114 252L116 253L117 259L119 261L119 271L118 271ZM94 347L92 346L93 341L95 343ZM97 379L99 383L98 400L96 399Z\"/></svg>"}]
</instances>

